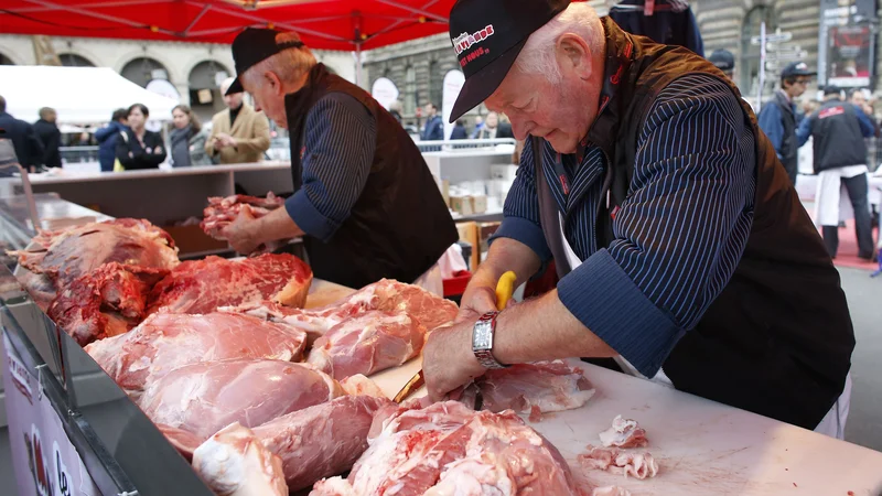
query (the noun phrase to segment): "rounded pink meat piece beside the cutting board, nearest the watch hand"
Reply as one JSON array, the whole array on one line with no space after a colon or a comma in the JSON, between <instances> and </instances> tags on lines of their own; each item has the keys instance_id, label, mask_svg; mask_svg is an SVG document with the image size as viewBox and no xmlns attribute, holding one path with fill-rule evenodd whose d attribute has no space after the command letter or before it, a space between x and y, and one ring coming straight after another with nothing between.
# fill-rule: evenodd
<instances>
[{"instance_id":1,"label":"rounded pink meat piece beside the cutting board, nearest the watch hand","mask_svg":"<svg viewBox=\"0 0 882 496\"><path fill-rule=\"evenodd\" d=\"M308 362L337 380L369 376L419 355L424 342L426 327L408 314L370 311L316 339Z\"/></svg>"}]
</instances>

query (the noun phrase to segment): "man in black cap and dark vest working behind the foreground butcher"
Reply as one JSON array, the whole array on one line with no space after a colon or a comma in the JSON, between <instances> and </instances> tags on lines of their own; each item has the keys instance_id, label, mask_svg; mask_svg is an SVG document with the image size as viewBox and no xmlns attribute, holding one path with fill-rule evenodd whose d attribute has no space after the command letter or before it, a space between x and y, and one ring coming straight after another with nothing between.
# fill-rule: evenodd
<instances>
[{"instance_id":1,"label":"man in black cap and dark vest working behind the foreground butcher","mask_svg":"<svg viewBox=\"0 0 882 496\"><path fill-rule=\"evenodd\" d=\"M233 41L237 78L288 129L294 194L222 235L239 252L303 236L319 279L362 288L383 278L441 285L435 262L459 239L413 140L364 89L331 74L295 33L247 29ZM442 291L435 288L437 291Z\"/></svg>"}]
</instances>

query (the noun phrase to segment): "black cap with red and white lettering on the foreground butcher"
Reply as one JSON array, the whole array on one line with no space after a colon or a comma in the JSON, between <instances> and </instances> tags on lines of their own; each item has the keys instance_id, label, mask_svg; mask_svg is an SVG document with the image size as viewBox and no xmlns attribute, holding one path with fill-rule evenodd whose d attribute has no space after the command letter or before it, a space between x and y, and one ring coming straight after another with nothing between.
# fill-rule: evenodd
<instances>
[{"instance_id":1,"label":"black cap with red and white lettering on the foreground butcher","mask_svg":"<svg viewBox=\"0 0 882 496\"><path fill-rule=\"evenodd\" d=\"M530 34L569 7L570 0L456 0L450 11L450 41L465 84L450 122L499 87Z\"/></svg>"}]
</instances>

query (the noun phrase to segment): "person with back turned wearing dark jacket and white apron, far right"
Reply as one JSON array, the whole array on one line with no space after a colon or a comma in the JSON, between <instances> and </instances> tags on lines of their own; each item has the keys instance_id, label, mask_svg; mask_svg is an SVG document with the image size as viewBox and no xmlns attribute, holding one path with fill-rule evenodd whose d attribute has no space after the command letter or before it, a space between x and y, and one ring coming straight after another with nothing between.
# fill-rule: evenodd
<instances>
[{"instance_id":1,"label":"person with back turned wearing dark jacket and white apron, far right","mask_svg":"<svg viewBox=\"0 0 882 496\"><path fill-rule=\"evenodd\" d=\"M873 259L873 229L870 216L867 142L875 133L873 122L854 104L842 100L837 86L824 88L824 104L803 119L796 130L798 145L811 137L818 187L815 195L815 219L821 226L824 242L831 257L839 249L841 190L848 192L854 211L858 257Z\"/></svg>"}]
</instances>

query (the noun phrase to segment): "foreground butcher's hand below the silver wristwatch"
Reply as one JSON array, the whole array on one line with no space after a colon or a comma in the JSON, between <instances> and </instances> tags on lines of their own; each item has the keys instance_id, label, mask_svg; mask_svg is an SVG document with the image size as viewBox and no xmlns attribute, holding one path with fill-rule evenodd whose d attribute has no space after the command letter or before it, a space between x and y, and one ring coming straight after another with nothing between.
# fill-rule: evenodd
<instances>
[{"instance_id":1,"label":"foreground butcher's hand below the silver wristwatch","mask_svg":"<svg viewBox=\"0 0 882 496\"><path fill-rule=\"evenodd\" d=\"M442 400L450 391L484 375L472 352L472 327L477 317L429 334L422 348L422 373L432 401Z\"/></svg>"}]
</instances>

